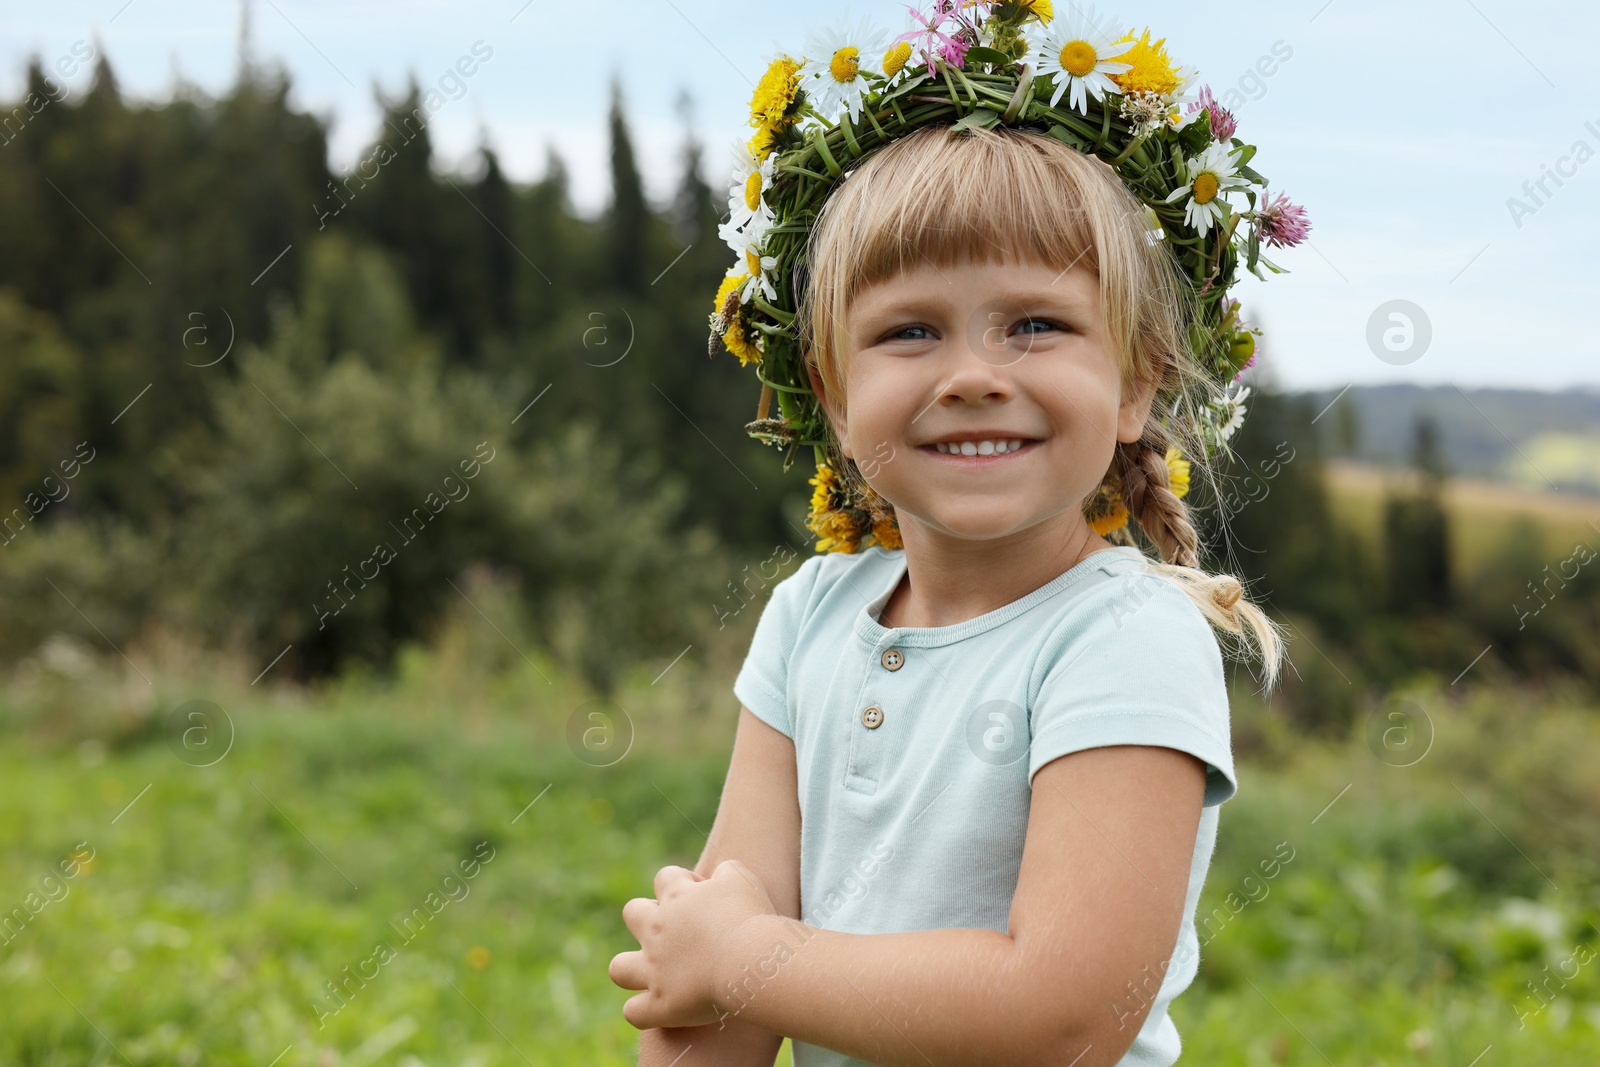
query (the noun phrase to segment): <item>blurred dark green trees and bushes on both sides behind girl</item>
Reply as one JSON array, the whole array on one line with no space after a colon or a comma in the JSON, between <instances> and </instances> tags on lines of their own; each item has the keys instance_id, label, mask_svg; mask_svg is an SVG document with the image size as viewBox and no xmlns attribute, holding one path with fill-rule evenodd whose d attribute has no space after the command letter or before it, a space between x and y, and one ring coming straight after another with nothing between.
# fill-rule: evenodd
<instances>
[{"instance_id":1,"label":"blurred dark green trees and bushes on both sides behind girl","mask_svg":"<svg viewBox=\"0 0 1600 1067\"><path fill-rule=\"evenodd\" d=\"M53 86L35 59L0 102L0 656L173 625L288 648L291 673L384 664L485 561L605 688L717 629L742 563L811 550L806 462L746 437L754 379L707 355L722 194L685 134L651 203L616 88L586 218L554 152L525 184L488 146L435 170L414 83L344 174L282 70L152 104L99 58L80 99L29 107ZM1594 632L1594 568L1523 629L1491 592L1547 560L1453 582L1426 440L1376 552L1330 510L1310 413L1258 394L1235 445L1230 475L1270 467L1267 491L1190 502L1208 565L1326 653L1296 656L1304 715L1357 702L1309 680L1320 659L1350 693L1490 640L1514 670L1600 678L1573 629Z\"/></svg>"}]
</instances>

